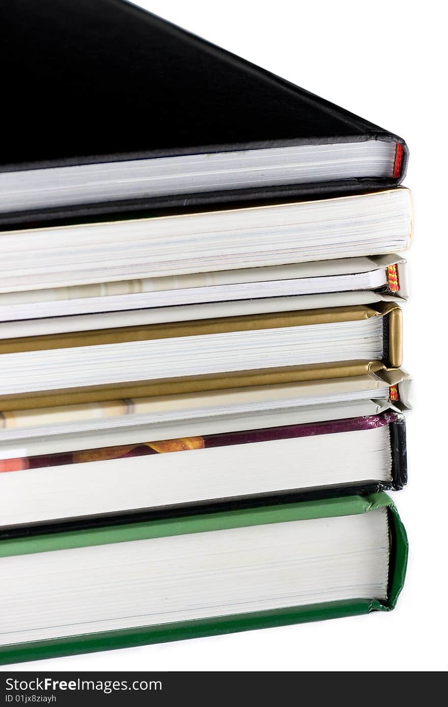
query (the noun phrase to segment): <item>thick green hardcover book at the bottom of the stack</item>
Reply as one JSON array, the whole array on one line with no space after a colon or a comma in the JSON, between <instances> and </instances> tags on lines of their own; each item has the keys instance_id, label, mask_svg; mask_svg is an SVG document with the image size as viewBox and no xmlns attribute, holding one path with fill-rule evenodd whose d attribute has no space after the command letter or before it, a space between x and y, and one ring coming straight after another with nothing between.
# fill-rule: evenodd
<instances>
[{"instance_id":1,"label":"thick green hardcover book at the bottom of the stack","mask_svg":"<svg viewBox=\"0 0 448 707\"><path fill-rule=\"evenodd\" d=\"M393 609L385 493L0 541L0 662Z\"/></svg>"}]
</instances>

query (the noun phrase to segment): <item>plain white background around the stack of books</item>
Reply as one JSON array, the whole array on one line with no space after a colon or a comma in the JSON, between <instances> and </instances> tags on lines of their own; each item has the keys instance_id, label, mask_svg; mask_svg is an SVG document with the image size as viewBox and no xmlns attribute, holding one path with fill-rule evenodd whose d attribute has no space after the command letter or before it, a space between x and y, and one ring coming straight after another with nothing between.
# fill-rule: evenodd
<instances>
[{"instance_id":1,"label":"plain white background around the stack of books","mask_svg":"<svg viewBox=\"0 0 448 707\"><path fill-rule=\"evenodd\" d=\"M145 8L406 139L415 232L404 363L406 587L390 614L14 666L23 670L448 670L447 54L440 1L150 0ZM151 86L148 86L151 90ZM150 125L150 122L149 122ZM445 404L444 404L445 401Z\"/></svg>"}]
</instances>

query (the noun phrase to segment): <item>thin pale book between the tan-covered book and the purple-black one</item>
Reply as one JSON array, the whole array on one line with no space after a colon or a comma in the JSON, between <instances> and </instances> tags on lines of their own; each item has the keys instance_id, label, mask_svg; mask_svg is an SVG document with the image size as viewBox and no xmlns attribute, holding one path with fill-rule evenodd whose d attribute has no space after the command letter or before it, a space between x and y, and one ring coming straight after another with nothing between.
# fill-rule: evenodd
<instances>
[{"instance_id":1,"label":"thin pale book between the tan-covered book and the purple-black one","mask_svg":"<svg viewBox=\"0 0 448 707\"><path fill-rule=\"evenodd\" d=\"M376 415L411 407L410 377L366 375L0 412L0 458Z\"/></svg>"}]
</instances>

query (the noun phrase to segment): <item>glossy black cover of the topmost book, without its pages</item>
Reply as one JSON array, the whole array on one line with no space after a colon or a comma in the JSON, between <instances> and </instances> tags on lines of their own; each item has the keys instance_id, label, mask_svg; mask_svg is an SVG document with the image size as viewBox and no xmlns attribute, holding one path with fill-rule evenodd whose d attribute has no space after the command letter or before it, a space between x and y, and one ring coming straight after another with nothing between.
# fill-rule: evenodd
<instances>
[{"instance_id":1,"label":"glossy black cover of the topmost book, without its pages","mask_svg":"<svg viewBox=\"0 0 448 707\"><path fill-rule=\"evenodd\" d=\"M0 171L367 139L404 148L398 179L70 206L48 218L318 197L403 177L407 148L397 136L127 2L3 0L0 12Z\"/></svg>"}]
</instances>

